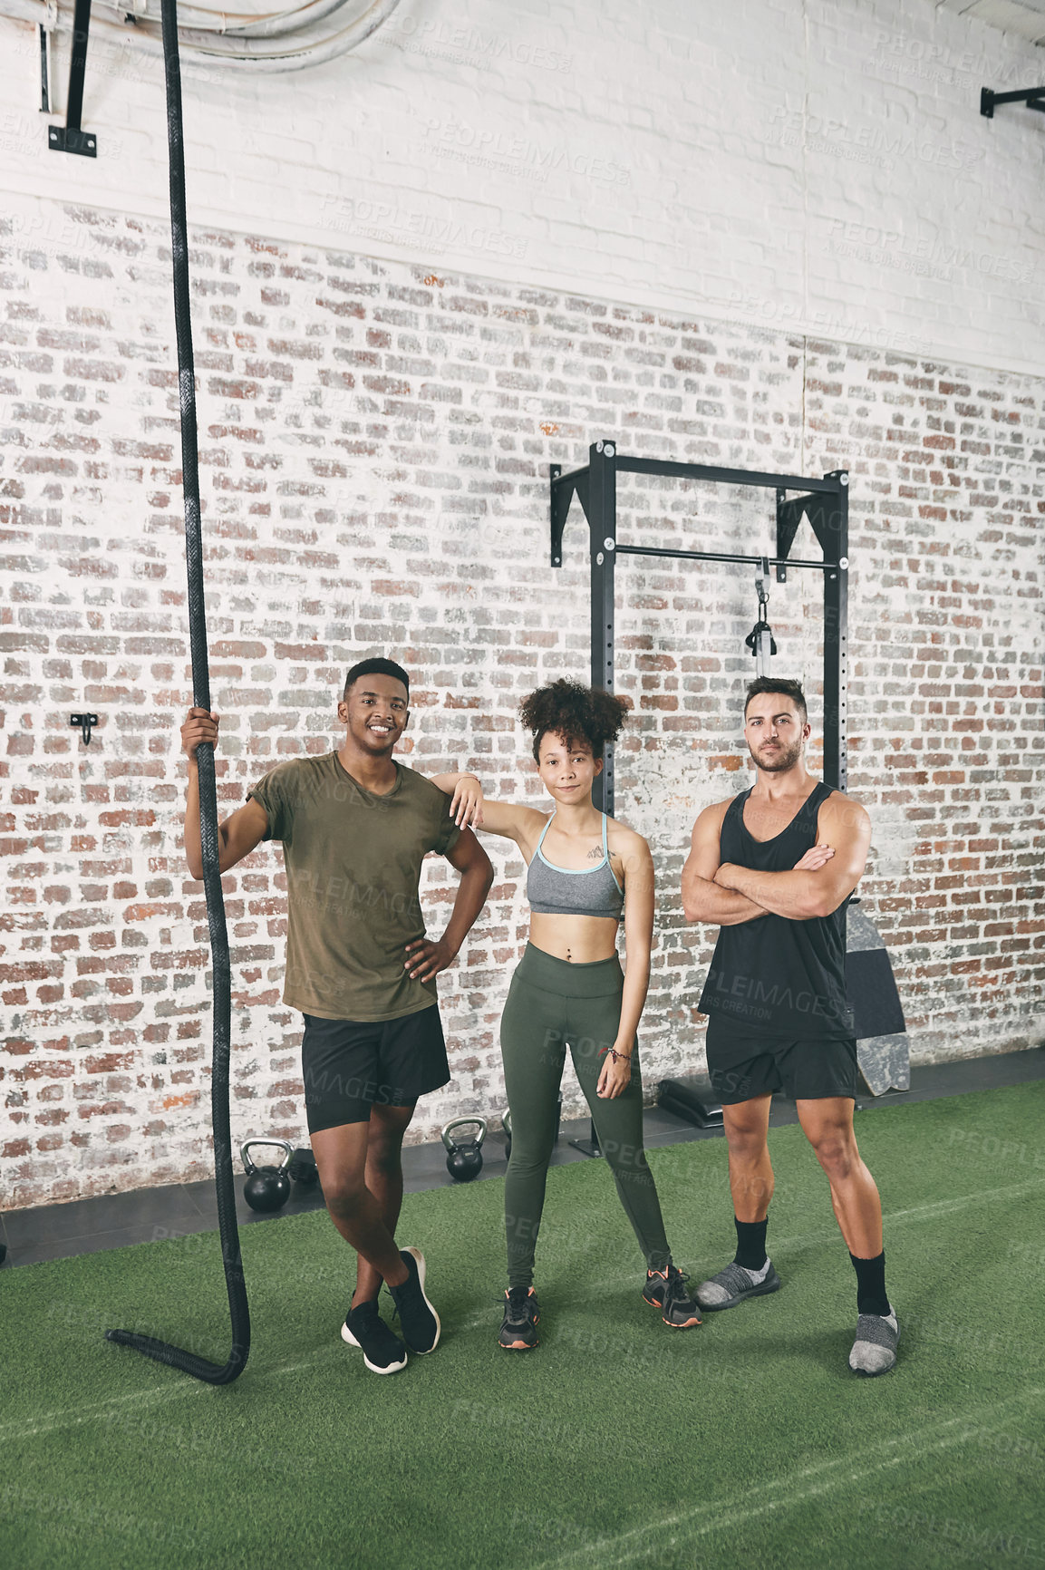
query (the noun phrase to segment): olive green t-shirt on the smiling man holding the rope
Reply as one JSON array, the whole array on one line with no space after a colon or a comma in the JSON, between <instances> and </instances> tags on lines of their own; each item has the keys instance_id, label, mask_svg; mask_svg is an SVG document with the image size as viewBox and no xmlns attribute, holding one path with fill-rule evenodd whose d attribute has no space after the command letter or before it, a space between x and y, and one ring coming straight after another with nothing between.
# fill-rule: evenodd
<instances>
[{"instance_id":1,"label":"olive green t-shirt on the smiling man holding the rope","mask_svg":"<svg viewBox=\"0 0 1045 1570\"><path fill-rule=\"evenodd\" d=\"M281 763L248 793L282 840L287 973L282 1000L320 1019L402 1019L436 1002L413 981L403 948L425 936L417 898L428 851L446 856L460 829L450 798L395 763L386 796L364 790L336 752Z\"/></svg>"}]
</instances>

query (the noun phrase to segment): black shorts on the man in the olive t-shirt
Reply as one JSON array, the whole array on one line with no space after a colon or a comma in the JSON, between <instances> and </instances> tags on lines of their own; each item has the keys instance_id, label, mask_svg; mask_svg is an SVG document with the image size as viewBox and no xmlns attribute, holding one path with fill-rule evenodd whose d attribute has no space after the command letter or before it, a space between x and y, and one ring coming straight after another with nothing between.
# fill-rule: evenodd
<instances>
[{"instance_id":1,"label":"black shorts on the man in the olive t-shirt","mask_svg":"<svg viewBox=\"0 0 1045 1570\"><path fill-rule=\"evenodd\" d=\"M301 1079L309 1134L369 1123L370 1107L413 1107L450 1080L439 1006L400 1019L304 1016Z\"/></svg>"}]
</instances>

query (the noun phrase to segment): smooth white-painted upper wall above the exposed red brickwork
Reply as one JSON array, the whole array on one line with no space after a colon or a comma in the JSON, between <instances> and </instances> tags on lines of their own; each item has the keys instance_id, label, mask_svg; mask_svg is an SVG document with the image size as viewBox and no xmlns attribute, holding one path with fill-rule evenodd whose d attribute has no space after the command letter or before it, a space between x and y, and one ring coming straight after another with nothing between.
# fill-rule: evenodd
<instances>
[{"instance_id":1,"label":"smooth white-painted upper wall above the exposed red brickwork","mask_svg":"<svg viewBox=\"0 0 1045 1570\"><path fill-rule=\"evenodd\" d=\"M158 60L91 41L89 165L47 151L36 69L0 20L0 185L162 217ZM929 0L403 0L328 66L187 75L188 195L238 232L1036 371L1045 132L979 89L1039 77Z\"/></svg>"}]
</instances>

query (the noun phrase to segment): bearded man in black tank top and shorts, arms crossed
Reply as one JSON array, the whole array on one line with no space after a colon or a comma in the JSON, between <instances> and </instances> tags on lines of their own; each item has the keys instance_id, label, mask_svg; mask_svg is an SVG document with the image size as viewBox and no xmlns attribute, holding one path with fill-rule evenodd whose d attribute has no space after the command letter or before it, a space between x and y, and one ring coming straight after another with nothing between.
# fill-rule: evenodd
<instances>
[{"instance_id":1,"label":"bearded man in black tank top and shorts, arms crossed","mask_svg":"<svg viewBox=\"0 0 1045 1570\"><path fill-rule=\"evenodd\" d=\"M857 1042L844 969L846 906L865 868L871 820L807 772L808 736L797 681L750 685L744 738L755 785L701 812L683 868L687 920L720 928L698 1008L709 1016L708 1069L725 1119L737 1234L733 1264L697 1298L714 1311L780 1286L766 1254L767 1132L772 1093L785 1091L827 1173L857 1272L849 1366L885 1374L896 1363L899 1327L885 1291L879 1190L852 1126Z\"/></svg>"}]
</instances>

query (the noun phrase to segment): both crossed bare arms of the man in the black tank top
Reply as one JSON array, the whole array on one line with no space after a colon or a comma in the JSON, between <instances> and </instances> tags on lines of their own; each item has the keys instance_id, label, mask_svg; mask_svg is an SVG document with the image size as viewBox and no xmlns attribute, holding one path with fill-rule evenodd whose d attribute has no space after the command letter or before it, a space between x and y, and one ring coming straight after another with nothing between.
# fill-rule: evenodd
<instances>
[{"instance_id":1,"label":"both crossed bare arms of the man in the black tank top","mask_svg":"<svg viewBox=\"0 0 1045 1570\"><path fill-rule=\"evenodd\" d=\"M860 805L835 791L817 815L817 843L785 873L763 873L719 860L719 835L730 802L706 807L694 824L683 868L687 922L737 926L759 915L808 922L830 915L863 874L871 846L871 820Z\"/></svg>"}]
</instances>

